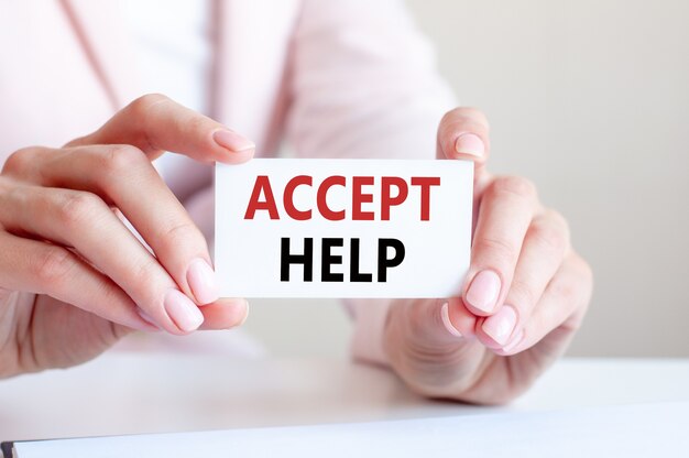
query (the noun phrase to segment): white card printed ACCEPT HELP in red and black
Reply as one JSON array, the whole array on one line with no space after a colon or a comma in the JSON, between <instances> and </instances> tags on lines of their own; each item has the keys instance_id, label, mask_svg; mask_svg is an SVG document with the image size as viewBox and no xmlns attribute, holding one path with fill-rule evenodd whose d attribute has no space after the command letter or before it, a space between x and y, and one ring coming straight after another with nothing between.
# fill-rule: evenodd
<instances>
[{"instance_id":1,"label":"white card printed ACCEPT HELP in red and black","mask_svg":"<svg viewBox=\"0 0 689 458\"><path fill-rule=\"evenodd\" d=\"M225 297L450 297L469 269L468 161L216 165Z\"/></svg>"}]
</instances>

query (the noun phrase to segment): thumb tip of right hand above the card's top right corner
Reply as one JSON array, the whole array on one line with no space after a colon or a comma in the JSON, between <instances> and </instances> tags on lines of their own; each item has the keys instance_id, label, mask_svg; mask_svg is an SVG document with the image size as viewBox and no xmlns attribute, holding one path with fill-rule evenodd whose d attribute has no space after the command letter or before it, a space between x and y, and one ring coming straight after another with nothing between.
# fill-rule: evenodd
<instances>
[{"instance_id":1,"label":"thumb tip of right hand above the card's top right corner","mask_svg":"<svg viewBox=\"0 0 689 458\"><path fill-rule=\"evenodd\" d=\"M484 171L490 151L489 124L475 108L447 112L438 127L438 159L463 159L475 164L475 178Z\"/></svg>"}]
</instances>

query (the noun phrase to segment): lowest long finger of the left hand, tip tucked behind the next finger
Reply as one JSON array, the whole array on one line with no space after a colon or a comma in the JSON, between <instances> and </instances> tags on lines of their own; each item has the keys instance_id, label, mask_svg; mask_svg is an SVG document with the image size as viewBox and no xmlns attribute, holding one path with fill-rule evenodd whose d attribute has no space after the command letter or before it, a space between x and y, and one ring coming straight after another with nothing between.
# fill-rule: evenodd
<instances>
[{"instance_id":1,"label":"lowest long finger of the left hand, tip tucked behind the next finger","mask_svg":"<svg viewBox=\"0 0 689 458\"><path fill-rule=\"evenodd\" d=\"M0 284L50 295L133 329L155 330L118 285L62 247L0 231Z\"/></svg>"}]
</instances>

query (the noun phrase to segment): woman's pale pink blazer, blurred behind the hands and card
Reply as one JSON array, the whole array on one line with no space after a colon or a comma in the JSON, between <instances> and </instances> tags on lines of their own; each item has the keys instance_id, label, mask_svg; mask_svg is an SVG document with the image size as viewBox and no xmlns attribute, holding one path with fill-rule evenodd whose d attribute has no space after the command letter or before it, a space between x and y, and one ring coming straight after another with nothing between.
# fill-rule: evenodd
<instances>
[{"instance_id":1,"label":"woman's pale pink blazer, blurred behind the hands and card","mask_svg":"<svg viewBox=\"0 0 689 458\"><path fill-rule=\"evenodd\" d=\"M304 157L435 156L438 121L455 101L400 1L215 8L211 116L255 141L256 155L285 141ZM142 95L132 46L118 2L0 2L0 164L22 146L88 133ZM185 167L168 184L212 237L211 167ZM348 305L354 355L384 362L386 302Z\"/></svg>"}]
</instances>

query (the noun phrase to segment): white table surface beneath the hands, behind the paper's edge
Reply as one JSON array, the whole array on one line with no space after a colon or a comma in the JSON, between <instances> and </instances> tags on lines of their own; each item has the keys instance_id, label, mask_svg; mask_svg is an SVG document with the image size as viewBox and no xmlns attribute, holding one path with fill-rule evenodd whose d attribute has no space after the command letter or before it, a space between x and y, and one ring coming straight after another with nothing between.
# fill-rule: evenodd
<instances>
[{"instance_id":1,"label":"white table surface beneath the hands, behind the paper's edge","mask_svg":"<svg viewBox=\"0 0 689 458\"><path fill-rule=\"evenodd\" d=\"M433 402L343 360L107 353L0 381L0 440L689 401L689 360L565 359L504 407Z\"/></svg>"}]
</instances>

